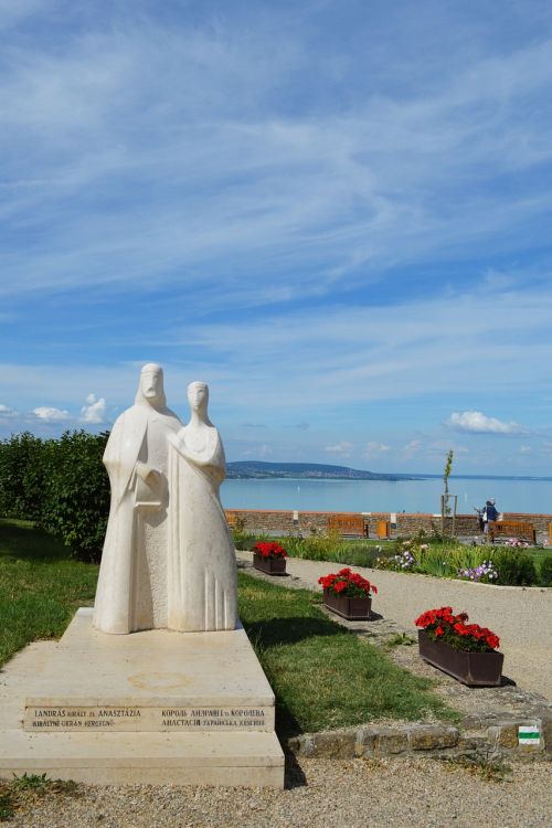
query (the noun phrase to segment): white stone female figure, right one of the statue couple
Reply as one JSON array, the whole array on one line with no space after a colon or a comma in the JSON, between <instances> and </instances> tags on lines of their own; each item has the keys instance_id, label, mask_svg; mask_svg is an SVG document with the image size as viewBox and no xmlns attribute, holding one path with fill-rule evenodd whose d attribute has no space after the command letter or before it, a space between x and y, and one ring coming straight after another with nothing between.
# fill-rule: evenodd
<instances>
[{"instance_id":1,"label":"white stone female figure, right one of the statue couple","mask_svg":"<svg viewBox=\"0 0 552 828\"><path fill-rule=\"evenodd\" d=\"M209 389L188 386L190 423L170 442L168 626L182 631L234 629L234 543L219 498L224 449L208 417Z\"/></svg>"}]
</instances>

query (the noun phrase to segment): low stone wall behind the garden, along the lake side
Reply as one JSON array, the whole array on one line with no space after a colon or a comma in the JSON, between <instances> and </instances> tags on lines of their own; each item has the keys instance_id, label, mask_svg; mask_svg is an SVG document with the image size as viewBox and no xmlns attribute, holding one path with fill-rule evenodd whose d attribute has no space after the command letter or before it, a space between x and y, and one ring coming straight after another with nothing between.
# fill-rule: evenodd
<instances>
[{"instance_id":1,"label":"low stone wall behind the garden, along the lake side","mask_svg":"<svg viewBox=\"0 0 552 828\"><path fill-rule=\"evenodd\" d=\"M308 535L312 529L325 531L328 528L328 518L331 514L343 514L344 512L319 512L319 511L299 511L291 510L262 510L262 509L226 509L226 514L232 521L238 518L244 523L247 532L282 532L283 534ZM385 521L390 523L391 538L404 538L416 534L424 530L432 534L434 528L438 531L442 529L442 519L439 514L406 514L404 512L347 512L358 517L363 516L368 523L369 537L376 538L378 522ZM392 521L393 518L393 521ZM505 512L505 520L520 520L532 523L538 532L549 534L549 526L552 523L552 514L520 514L518 512ZM453 531L452 518L445 519L445 530L448 534ZM478 535L479 523L476 514L457 514L455 520L455 534L457 535Z\"/></svg>"}]
</instances>

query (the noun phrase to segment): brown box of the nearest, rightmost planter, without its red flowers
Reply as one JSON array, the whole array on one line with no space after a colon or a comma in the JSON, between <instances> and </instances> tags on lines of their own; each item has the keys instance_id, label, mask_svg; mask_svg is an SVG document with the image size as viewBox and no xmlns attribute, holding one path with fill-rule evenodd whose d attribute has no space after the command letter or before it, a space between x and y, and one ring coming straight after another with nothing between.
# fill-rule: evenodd
<instances>
[{"instance_id":1,"label":"brown box of the nearest, rightmost planter, without its red flowers","mask_svg":"<svg viewBox=\"0 0 552 828\"><path fill-rule=\"evenodd\" d=\"M432 641L425 629L418 630L420 656L443 672L468 687L499 687L505 656L498 650L466 652L445 641Z\"/></svg>"}]
</instances>

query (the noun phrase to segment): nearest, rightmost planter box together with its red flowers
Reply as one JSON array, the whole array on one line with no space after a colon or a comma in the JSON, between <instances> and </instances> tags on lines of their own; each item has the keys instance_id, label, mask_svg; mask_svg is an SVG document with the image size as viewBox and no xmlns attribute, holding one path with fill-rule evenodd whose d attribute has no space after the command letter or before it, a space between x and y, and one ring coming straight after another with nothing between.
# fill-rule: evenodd
<instances>
[{"instance_id":1,"label":"nearest, rightmost planter box together with its red flowers","mask_svg":"<svg viewBox=\"0 0 552 828\"><path fill-rule=\"evenodd\" d=\"M443 672L469 687L498 687L503 654L498 636L487 627L466 624L466 613L453 615L452 607L428 609L416 618L420 656Z\"/></svg>"}]
</instances>

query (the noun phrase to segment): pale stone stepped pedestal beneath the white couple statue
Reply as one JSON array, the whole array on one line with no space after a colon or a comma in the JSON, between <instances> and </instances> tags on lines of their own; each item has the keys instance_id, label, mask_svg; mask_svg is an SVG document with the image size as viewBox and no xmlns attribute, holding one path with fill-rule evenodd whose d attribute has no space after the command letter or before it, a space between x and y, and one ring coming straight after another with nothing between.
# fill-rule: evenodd
<instances>
[{"instance_id":1,"label":"pale stone stepped pedestal beneath the white couple statue","mask_svg":"<svg viewBox=\"0 0 552 828\"><path fill-rule=\"evenodd\" d=\"M274 693L243 628L105 635L82 608L47 646L34 675L25 654L8 666L0 776L283 787Z\"/></svg>"}]
</instances>

